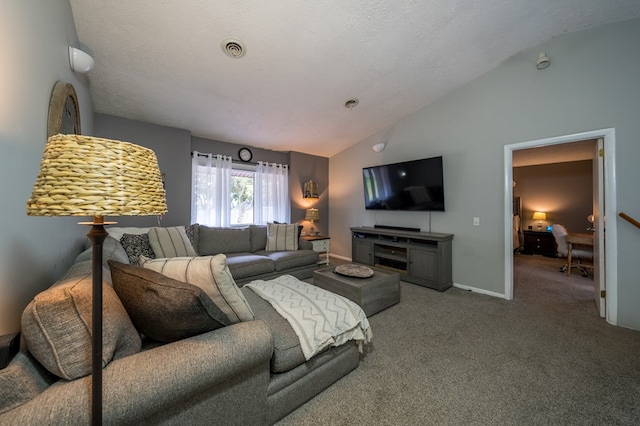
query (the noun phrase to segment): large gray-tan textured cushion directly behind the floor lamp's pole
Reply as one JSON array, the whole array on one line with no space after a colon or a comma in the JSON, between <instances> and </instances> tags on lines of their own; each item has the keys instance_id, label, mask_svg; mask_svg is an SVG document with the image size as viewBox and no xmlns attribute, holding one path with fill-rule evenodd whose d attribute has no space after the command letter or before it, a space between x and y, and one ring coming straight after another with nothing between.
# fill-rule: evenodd
<instances>
[{"instance_id":1,"label":"large gray-tan textured cushion directly behind the floor lamp's pole","mask_svg":"<svg viewBox=\"0 0 640 426\"><path fill-rule=\"evenodd\" d=\"M51 373L73 380L91 373L91 261L74 264L22 313L22 334L31 354ZM104 270L103 277L109 277ZM102 365L140 351L140 334L113 287L103 279Z\"/></svg>"}]
</instances>

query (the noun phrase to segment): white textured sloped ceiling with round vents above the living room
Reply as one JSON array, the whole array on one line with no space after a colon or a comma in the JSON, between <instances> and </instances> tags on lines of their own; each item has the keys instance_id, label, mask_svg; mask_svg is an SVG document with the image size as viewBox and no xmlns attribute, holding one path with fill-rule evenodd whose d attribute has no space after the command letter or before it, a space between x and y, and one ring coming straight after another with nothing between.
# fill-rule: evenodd
<instances>
[{"instance_id":1,"label":"white textured sloped ceiling with round vents above the living room","mask_svg":"<svg viewBox=\"0 0 640 426\"><path fill-rule=\"evenodd\" d=\"M638 0L71 0L96 112L331 156ZM221 48L233 37L246 54ZM535 57L532 58L532 67ZM543 72L543 71L541 71ZM356 97L360 104L347 109Z\"/></svg>"}]
</instances>

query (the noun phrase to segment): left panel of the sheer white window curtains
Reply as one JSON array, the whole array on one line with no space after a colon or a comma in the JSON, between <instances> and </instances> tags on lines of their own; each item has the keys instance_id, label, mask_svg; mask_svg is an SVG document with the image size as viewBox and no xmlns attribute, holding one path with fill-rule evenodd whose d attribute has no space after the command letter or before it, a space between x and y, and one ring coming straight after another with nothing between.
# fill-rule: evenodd
<instances>
[{"instance_id":1,"label":"left panel of the sheer white window curtains","mask_svg":"<svg viewBox=\"0 0 640 426\"><path fill-rule=\"evenodd\" d=\"M191 159L191 223L230 226L231 157L201 154Z\"/></svg>"}]
</instances>

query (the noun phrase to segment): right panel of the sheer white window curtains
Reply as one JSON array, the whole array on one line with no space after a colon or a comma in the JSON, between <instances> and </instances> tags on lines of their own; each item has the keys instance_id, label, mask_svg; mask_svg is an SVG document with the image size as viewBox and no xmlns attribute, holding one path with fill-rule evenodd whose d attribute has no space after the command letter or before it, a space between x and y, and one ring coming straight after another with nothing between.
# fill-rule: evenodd
<instances>
[{"instance_id":1,"label":"right panel of the sheer white window curtains","mask_svg":"<svg viewBox=\"0 0 640 426\"><path fill-rule=\"evenodd\" d=\"M254 183L254 215L257 224L267 222L288 223L289 166L258 162Z\"/></svg>"}]
</instances>

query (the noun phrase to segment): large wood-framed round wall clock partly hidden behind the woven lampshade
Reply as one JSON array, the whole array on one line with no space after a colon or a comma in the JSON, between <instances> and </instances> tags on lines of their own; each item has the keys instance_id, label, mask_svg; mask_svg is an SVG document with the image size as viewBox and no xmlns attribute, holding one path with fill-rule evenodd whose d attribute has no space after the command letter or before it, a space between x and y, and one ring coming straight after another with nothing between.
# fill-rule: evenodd
<instances>
[{"instance_id":1,"label":"large wood-framed round wall clock partly hidden behind the woven lampshade","mask_svg":"<svg viewBox=\"0 0 640 426\"><path fill-rule=\"evenodd\" d=\"M71 83L58 81L49 101L47 138L58 133L80 134L80 106Z\"/></svg>"}]
</instances>

